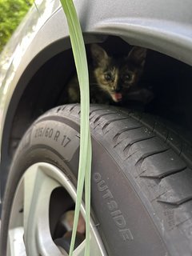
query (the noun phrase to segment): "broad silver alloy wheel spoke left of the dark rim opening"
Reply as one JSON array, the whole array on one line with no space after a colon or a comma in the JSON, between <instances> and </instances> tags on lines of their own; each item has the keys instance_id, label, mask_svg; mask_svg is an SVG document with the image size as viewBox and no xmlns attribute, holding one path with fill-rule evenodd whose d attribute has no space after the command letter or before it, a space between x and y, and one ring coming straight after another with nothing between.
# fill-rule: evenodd
<instances>
[{"instance_id":1,"label":"broad silver alloy wheel spoke left of the dark rim opening","mask_svg":"<svg viewBox=\"0 0 192 256\"><path fill-rule=\"evenodd\" d=\"M31 255L62 255L51 238L49 222L50 194L58 186L38 165L25 174L24 240Z\"/></svg>"}]
</instances>

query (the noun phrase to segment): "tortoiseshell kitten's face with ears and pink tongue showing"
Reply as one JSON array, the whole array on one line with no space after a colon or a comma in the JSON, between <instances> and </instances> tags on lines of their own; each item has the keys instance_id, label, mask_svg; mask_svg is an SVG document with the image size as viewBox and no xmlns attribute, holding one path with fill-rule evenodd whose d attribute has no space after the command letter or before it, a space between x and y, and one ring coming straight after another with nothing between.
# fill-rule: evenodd
<instances>
[{"instance_id":1,"label":"tortoiseshell kitten's face with ears and pink tongue showing","mask_svg":"<svg viewBox=\"0 0 192 256\"><path fill-rule=\"evenodd\" d=\"M98 45L91 46L94 77L100 89L106 91L114 102L138 82L146 59L146 49L134 47L126 58L110 58Z\"/></svg>"}]
</instances>

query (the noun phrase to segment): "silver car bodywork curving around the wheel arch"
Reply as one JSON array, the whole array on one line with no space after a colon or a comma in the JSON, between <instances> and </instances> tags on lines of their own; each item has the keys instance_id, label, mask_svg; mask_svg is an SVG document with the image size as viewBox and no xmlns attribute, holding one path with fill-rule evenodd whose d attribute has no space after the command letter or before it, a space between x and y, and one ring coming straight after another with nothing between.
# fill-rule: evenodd
<instances>
[{"instance_id":1,"label":"silver car bodywork curving around the wheel arch","mask_svg":"<svg viewBox=\"0 0 192 256\"><path fill-rule=\"evenodd\" d=\"M14 110L32 78L47 60L70 48L66 18L58 0L36 1L0 58L0 148L9 143ZM117 35L192 65L190 0L75 0L85 42ZM38 7L38 8L37 8ZM4 141L3 141L4 139ZM6 159L1 155L1 177ZM4 178L1 178L5 182Z\"/></svg>"}]
</instances>

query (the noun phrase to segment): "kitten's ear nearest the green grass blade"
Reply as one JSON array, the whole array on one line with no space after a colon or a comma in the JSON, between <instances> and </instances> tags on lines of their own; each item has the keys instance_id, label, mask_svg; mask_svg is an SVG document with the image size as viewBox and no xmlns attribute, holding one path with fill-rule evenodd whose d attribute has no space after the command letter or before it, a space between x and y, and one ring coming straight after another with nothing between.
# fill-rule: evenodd
<instances>
[{"instance_id":1,"label":"kitten's ear nearest the green grass blade","mask_svg":"<svg viewBox=\"0 0 192 256\"><path fill-rule=\"evenodd\" d=\"M106 51L102 49L101 46L98 46L97 44L92 44L90 46L90 51L92 54L94 66L103 66L110 59Z\"/></svg>"}]
</instances>

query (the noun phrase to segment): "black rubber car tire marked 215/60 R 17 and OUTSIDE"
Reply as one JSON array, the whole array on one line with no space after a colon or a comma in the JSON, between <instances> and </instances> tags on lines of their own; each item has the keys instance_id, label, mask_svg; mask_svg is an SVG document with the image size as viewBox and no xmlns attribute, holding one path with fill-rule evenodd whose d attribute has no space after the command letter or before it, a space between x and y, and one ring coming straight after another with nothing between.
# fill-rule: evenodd
<instances>
[{"instance_id":1,"label":"black rubber car tire marked 215/60 R 17 and OUTSIDE","mask_svg":"<svg viewBox=\"0 0 192 256\"><path fill-rule=\"evenodd\" d=\"M7 253L14 194L30 166L49 163L77 185L80 114L79 105L59 106L23 136L6 184L1 255ZM188 143L159 118L113 106L90 106L90 127L92 218L107 254L191 255Z\"/></svg>"}]
</instances>

